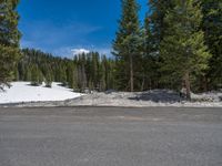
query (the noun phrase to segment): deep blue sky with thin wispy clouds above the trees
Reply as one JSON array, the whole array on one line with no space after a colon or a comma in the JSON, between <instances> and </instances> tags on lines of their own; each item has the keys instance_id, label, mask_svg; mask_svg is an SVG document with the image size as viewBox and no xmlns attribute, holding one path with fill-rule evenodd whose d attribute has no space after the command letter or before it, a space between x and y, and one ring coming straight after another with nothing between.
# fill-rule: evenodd
<instances>
[{"instance_id":1,"label":"deep blue sky with thin wispy clouds above the trees","mask_svg":"<svg viewBox=\"0 0 222 166\"><path fill-rule=\"evenodd\" d=\"M57 56L98 51L111 55L121 14L121 0L20 0L21 48ZM148 0L138 0L140 19Z\"/></svg>"}]
</instances>

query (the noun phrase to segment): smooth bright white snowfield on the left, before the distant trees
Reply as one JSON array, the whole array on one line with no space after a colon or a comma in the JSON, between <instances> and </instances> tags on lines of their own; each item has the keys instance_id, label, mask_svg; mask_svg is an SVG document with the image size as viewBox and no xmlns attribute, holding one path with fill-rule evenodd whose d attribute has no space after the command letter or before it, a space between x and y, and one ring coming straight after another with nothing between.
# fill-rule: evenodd
<instances>
[{"instance_id":1,"label":"smooth bright white snowfield on the left, before the distant trees","mask_svg":"<svg viewBox=\"0 0 222 166\"><path fill-rule=\"evenodd\" d=\"M60 83L52 83L52 87L31 86L29 82L12 82L11 87L0 91L0 104L42 102L42 101L64 101L81 96L72 90L60 86Z\"/></svg>"}]
</instances>

